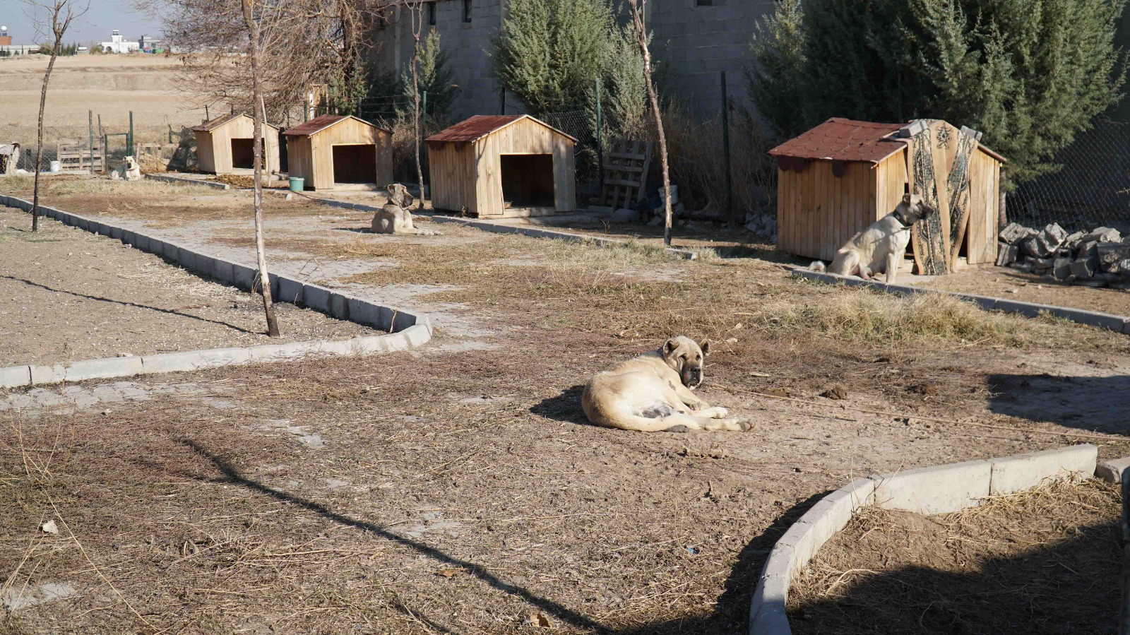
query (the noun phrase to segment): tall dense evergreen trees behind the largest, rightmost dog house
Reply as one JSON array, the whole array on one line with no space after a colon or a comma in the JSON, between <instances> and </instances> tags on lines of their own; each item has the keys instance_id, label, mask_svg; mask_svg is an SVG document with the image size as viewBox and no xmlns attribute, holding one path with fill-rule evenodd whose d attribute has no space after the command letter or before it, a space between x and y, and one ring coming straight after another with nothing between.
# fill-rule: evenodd
<instances>
[{"instance_id":1,"label":"tall dense evergreen trees behind the largest, rightmost dog house","mask_svg":"<svg viewBox=\"0 0 1130 635\"><path fill-rule=\"evenodd\" d=\"M1125 0L783 0L753 44L771 128L946 119L984 132L1015 184L1121 98ZM792 108L790 108L792 104Z\"/></svg>"}]
</instances>

